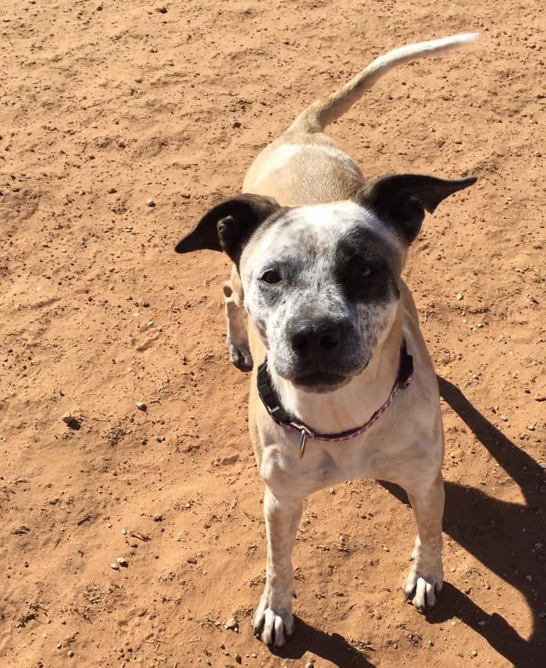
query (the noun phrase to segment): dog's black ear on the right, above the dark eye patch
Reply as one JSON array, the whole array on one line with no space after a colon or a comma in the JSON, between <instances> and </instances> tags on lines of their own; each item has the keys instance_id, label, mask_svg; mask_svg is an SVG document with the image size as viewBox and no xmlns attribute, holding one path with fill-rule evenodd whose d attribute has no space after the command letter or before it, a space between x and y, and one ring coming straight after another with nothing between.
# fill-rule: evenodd
<instances>
[{"instance_id":1,"label":"dog's black ear on the right, above the dark eye patch","mask_svg":"<svg viewBox=\"0 0 546 668\"><path fill-rule=\"evenodd\" d=\"M392 225L411 244L425 217L446 197L468 188L476 177L460 180L437 179L421 174L387 175L370 182L357 196L361 205L372 209L382 221Z\"/></svg>"}]
</instances>

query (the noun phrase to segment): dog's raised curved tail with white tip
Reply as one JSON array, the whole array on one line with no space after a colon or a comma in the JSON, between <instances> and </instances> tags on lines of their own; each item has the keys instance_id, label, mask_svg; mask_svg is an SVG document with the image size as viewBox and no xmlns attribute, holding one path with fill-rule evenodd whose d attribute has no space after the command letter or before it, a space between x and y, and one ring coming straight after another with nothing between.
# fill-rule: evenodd
<instances>
[{"instance_id":1,"label":"dog's raised curved tail with white tip","mask_svg":"<svg viewBox=\"0 0 546 668\"><path fill-rule=\"evenodd\" d=\"M327 97L313 102L305 111L299 114L296 120L288 128L292 130L303 130L304 132L321 132L329 123L339 118L345 111L359 100L366 90L371 88L377 79L380 79L389 70L400 63L413 61L423 56L433 56L440 51L457 49L465 44L474 42L480 33L462 33L452 35L442 40L430 40L430 42L419 42L405 47L399 47L389 51L388 54L375 58L365 70L348 81L343 88L336 90Z\"/></svg>"}]
</instances>

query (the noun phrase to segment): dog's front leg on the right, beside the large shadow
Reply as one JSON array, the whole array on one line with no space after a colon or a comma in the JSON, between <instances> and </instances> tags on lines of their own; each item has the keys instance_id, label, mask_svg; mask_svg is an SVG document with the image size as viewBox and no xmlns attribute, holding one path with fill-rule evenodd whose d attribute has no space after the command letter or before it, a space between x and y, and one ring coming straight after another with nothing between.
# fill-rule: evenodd
<instances>
[{"instance_id":1,"label":"dog's front leg on the right, beside the large shadow","mask_svg":"<svg viewBox=\"0 0 546 668\"><path fill-rule=\"evenodd\" d=\"M435 482L419 491L407 490L417 520L418 534L412 552L412 568L402 589L407 601L424 612L436 603L436 594L444 584L442 567L442 516L444 514L444 480L439 474Z\"/></svg>"}]
</instances>

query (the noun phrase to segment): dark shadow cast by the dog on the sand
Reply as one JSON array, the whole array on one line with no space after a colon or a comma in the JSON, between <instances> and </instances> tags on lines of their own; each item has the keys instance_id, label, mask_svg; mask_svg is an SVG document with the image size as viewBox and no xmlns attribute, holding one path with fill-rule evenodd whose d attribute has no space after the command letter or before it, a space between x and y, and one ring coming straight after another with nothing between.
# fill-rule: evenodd
<instances>
[{"instance_id":1,"label":"dark shadow cast by the dog on the sand","mask_svg":"<svg viewBox=\"0 0 546 668\"><path fill-rule=\"evenodd\" d=\"M446 482L444 531L485 568L520 592L531 610L533 630L529 640L522 638L501 614L487 614L476 605L471 600L471 591L467 596L448 582L444 584L437 607L427 613L427 620L437 624L460 619L518 668L544 665L545 471L477 411L459 388L439 376L438 384L444 400L520 487L525 499L525 504L504 502L479 488ZM383 484L400 501L408 503L405 492L398 486ZM479 586L483 584L485 582L480 582ZM509 605L502 598L498 600L502 605ZM341 635L322 633L300 619L297 620L295 637L282 650L279 654L286 658L300 658L306 651L311 651L340 668L348 665L373 668L373 663L357 653Z\"/></svg>"}]
</instances>

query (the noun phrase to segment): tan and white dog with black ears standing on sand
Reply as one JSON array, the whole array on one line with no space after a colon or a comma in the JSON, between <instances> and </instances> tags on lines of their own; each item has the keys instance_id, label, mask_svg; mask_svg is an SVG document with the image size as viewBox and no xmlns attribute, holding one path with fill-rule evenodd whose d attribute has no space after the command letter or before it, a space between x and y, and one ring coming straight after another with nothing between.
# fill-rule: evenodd
<instances>
[{"instance_id":1,"label":"tan and white dog with black ears standing on sand","mask_svg":"<svg viewBox=\"0 0 546 668\"><path fill-rule=\"evenodd\" d=\"M423 612L442 589L439 393L400 274L425 211L476 179L402 174L366 184L323 129L392 67L477 36L376 58L303 111L255 159L244 194L212 208L176 244L177 253L209 248L233 261L227 344L235 366L253 368L249 429L265 481L267 576L252 625L273 649L294 629L291 554L302 503L337 482L382 479L407 491L418 535L403 592Z\"/></svg>"}]
</instances>

